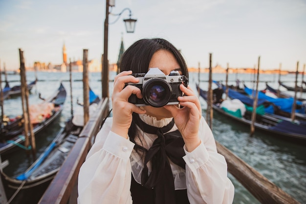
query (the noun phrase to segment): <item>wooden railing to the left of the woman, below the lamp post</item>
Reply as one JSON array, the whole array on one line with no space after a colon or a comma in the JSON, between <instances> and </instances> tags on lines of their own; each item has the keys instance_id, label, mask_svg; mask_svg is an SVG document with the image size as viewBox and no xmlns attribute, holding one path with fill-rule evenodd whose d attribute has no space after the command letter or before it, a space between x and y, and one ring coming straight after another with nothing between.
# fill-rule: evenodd
<instances>
[{"instance_id":1,"label":"wooden railing to the left of the woman, below the lamp post","mask_svg":"<svg viewBox=\"0 0 306 204\"><path fill-rule=\"evenodd\" d=\"M77 178L80 167L92 145L93 138L99 132L101 121L108 114L108 98L100 101L97 112L90 116L78 140L71 149L61 169L50 183L39 204L76 204ZM70 198L71 196L71 198Z\"/></svg>"}]
</instances>

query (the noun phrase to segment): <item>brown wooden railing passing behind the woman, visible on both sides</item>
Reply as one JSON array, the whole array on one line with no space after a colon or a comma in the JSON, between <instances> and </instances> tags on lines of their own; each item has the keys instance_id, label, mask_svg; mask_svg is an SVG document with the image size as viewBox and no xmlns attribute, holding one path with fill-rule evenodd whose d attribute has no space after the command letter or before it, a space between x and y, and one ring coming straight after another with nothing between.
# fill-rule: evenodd
<instances>
[{"instance_id":1,"label":"brown wooden railing passing behind the woman, visible on both sides","mask_svg":"<svg viewBox=\"0 0 306 204\"><path fill-rule=\"evenodd\" d=\"M99 131L99 123L107 115L108 99L99 104L100 112L89 118L80 138L77 140L61 170L50 183L39 204L76 204L77 177L94 136ZM300 204L289 194L266 179L242 159L223 145L217 144L219 154L223 155L231 173L262 204Z\"/></svg>"}]
</instances>

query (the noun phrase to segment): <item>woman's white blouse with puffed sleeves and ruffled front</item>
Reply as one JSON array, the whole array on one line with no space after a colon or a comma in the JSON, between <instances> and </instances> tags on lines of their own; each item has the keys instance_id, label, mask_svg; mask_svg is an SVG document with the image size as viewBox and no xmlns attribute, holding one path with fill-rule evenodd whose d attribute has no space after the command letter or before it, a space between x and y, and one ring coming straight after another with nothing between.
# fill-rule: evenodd
<instances>
[{"instance_id":1,"label":"woman's white blouse with puffed sleeves and ruffled front","mask_svg":"<svg viewBox=\"0 0 306 204\"><path fill-rule=\"evenodd\" d=\"M157 121L155 117L140 115L147 124L155 127L167 125L172 118ZM78 179L78 204L132 204L131 173L141 183L143 158L133 149L129 139L110 131L112 118L107 118L97 134ZM174 125L171 131L176 130ZM234 185L227 178L227 164L217 153L214 136L205 119L201 118L199 136L201 144L183 159L186 170L170 160L175 189L186 189L190 204L231 204ZM156 135L143 135L142 144L149 149ZM140 144L140 141L136 142ZM148 163L149 174L151 162Z\"/></svg>"}]
</instances>

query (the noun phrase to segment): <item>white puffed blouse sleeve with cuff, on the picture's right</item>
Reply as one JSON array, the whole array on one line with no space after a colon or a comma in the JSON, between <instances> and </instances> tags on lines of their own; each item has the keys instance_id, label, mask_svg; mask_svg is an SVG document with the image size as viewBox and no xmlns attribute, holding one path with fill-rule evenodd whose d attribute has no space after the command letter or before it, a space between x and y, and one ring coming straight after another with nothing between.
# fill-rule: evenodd
<instances>
[{"instance_id":1,"label":"white puffed blouse sleeve with cuff, on the picture's right","mask_svg":"<svg viewBox=\"0 0 306 204\"><path fill-rule=\"evenodd\" d=\"M190 204L231 204L234 185L227 177L227 163L217 152L212 131L201 118L201 144L192 152L186 149L186 184Z\"/></svg>"}]
</instances>

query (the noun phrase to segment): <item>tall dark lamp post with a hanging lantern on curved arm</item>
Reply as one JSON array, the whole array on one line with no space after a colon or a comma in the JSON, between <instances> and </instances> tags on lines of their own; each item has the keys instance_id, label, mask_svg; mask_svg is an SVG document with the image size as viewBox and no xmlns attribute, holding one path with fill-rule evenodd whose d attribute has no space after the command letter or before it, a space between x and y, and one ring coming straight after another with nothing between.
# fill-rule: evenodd
<instances>
[{"instance_id":1,"label":"tall dark lamp post with a hanging lantern on curved arm","mask_svg":"<svg viewBox=\"0 0 306 204\"><path fill-rule=\"evenodd\" d=\"M102 62L102 98L109 97L109 60L108 60L108 44L109 44L109 6L114 6L113 0L106 0L106 12L104 21L104 50L103 50L103 62ZM133 33L135 28L135 23L137 20L131 19L131 9L125 8L119 14L112 14L118 16L125 11L130 11L130 18L123 20L126 24L127 33ZM117 19L117 20L118 20ZM116 21L115 21L116 22ZM114 23L115 23L114 22Z\"/></svg>"}]
</instances>

